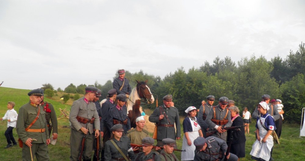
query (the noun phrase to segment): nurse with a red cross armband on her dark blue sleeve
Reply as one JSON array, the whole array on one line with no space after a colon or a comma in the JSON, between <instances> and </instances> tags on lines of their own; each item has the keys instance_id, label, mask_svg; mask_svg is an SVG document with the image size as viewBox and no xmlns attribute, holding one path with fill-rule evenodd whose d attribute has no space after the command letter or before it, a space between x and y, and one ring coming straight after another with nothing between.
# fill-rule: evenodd
<instances>
[{"instance_id":1,"label":"nurse with a red cross armband on her dark blue sleeve","mask_svg":"<svg viewBox=\"0 0 305 161\"><path fill-rule=\"evenodd\" d=\"M273 137L270 134L274 130L274 119L267 112L269 106L266 102L260 102L257 110L260 112L255 125L257 140L252 145L250 155L254 160L269 161L271 148L273 147Z\"/></svg>"}]
</instances>

